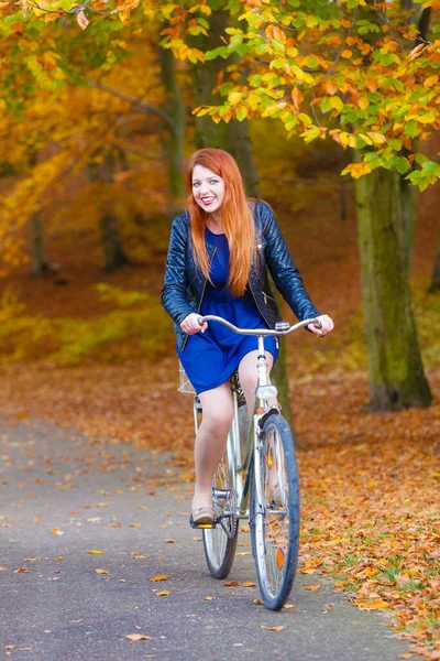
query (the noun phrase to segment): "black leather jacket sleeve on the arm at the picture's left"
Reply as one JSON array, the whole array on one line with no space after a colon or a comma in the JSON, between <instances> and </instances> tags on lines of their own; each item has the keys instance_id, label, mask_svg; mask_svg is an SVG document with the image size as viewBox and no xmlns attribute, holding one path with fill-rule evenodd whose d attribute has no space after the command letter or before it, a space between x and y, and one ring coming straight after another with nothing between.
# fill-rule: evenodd
<instances>
[{"instance_id":1,"label":"black leather jacket sleeve on the arm at the picture's left","mask_svg":"<svg viewBox=\"0 0 440 661\"><path fill-rule=\"evenodd\" d=\"M173 220L165 280L162 289L162 305L178 326L194 312L187 301L188 278L186 273L187 227L183 216Z\"/></svg>"}]
</instances>

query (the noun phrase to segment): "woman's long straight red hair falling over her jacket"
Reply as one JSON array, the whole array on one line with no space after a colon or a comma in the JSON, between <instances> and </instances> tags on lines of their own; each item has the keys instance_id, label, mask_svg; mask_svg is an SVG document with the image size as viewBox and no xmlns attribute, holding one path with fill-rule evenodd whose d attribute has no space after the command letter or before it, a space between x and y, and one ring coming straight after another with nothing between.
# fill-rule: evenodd
<instances>
[{"instance_id":1,"label":"woman's long straight red hair falling over her jacket","mask_svg":"<svg viewBox=\"0 0 440 661\"><path fill-rule=\"evenodd\" d=\"M189 193L187 205L191 220L194 256L208 280L210 280L210 264L205 246L208 212L199 207L194 199L193 171L196 165L207 167L224 181L221 223L230 251L228 286L234 296L242 296L246 289L255 248L255 225L239 166L231 154L221 149L199 149L190 158L185 171L185 184Z\"/></svg>"}]
</instances>

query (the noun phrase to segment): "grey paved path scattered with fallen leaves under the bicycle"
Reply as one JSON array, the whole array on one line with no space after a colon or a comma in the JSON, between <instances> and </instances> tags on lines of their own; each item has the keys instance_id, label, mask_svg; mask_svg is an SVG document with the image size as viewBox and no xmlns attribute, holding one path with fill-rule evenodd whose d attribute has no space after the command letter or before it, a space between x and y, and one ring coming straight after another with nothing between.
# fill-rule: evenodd
<instances>
[{"instance_id":1,"label":"grey paved path scattered with fallen leaves under the bicycle","mask_svg":"<svg viewBox=\"0 0 440 661\"><path fill-rule=\"evenodd\" d=\"M253 603L256 587L211 578L187 524L190 485L163 458L38 421L0 424L0 659L397 661L407 651L381 615L321 576L298 575L294 608L280 613ZM158 574L169 579L152 583ZM229 579L256 582L251 555Z\"/></svg>"}]
</instances>

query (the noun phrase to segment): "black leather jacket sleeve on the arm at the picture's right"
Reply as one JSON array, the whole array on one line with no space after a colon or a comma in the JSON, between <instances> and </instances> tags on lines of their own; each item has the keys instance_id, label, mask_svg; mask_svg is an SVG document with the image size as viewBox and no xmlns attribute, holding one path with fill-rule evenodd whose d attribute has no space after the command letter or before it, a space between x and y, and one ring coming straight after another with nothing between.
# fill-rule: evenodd
<instances>
[{"instance_id":1,"label":"black leather jacket sleeve on the arm at the picture's right","mask_svg":"<svg viewBox=\"0 0 440 661\"><path fill-rule=\"evenodd\" d=\"M319 316L304 286L301 274L290 257L273 210L264 202L261 202L258 207L265 239L264 254L276 289L300 322Z\"/></svg>"}]
</instances>

